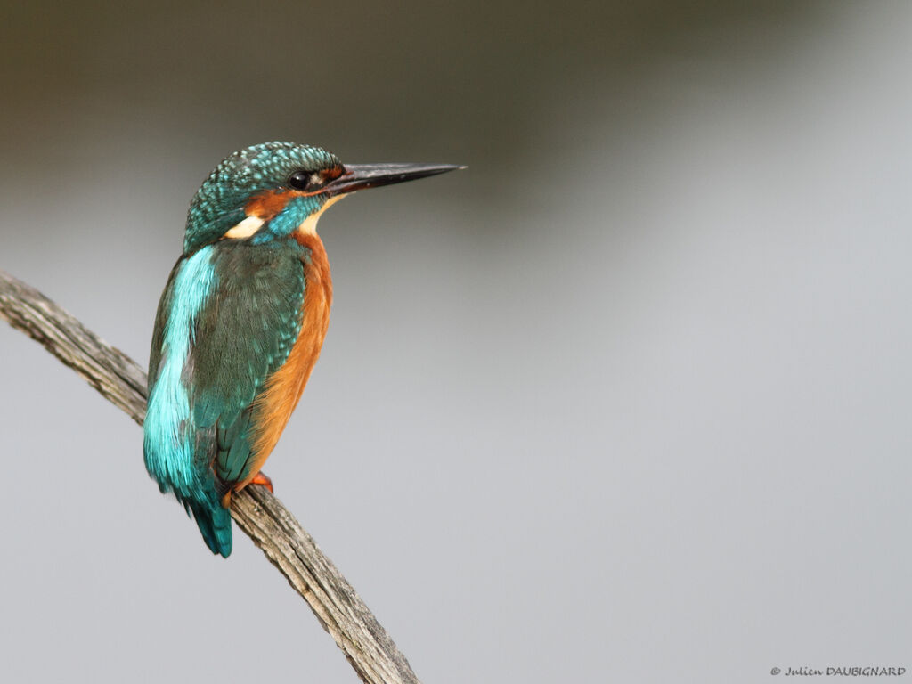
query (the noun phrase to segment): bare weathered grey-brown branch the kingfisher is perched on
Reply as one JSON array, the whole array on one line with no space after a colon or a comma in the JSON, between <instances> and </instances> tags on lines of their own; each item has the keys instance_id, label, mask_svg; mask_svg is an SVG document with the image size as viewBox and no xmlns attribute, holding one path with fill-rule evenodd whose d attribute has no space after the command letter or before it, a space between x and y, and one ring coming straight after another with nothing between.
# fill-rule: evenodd
<instances>
[{"instance_id":1,"label":"bare weathered grey-brown branch the kingfisher is perched on","mask_svg":"<svg viewBox=\"0 0 912 684\"><path fill-rule=\"evenodd\" d=\"M40 342L142 424L146 374L36 289L0 271L0 318ZM263 487L232 497L232 517L304 597L366 684L419 684L368 606L282 502Z\"/></svg>"}]
</instances>

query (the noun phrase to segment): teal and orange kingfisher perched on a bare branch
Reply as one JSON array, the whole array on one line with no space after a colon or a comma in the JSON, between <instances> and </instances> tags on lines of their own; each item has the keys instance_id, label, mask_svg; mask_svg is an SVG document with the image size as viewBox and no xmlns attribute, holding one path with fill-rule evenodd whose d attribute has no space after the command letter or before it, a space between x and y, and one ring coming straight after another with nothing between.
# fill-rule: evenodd
<instances>
[{"instance_id":1,"label":"teal and orange kingfisher perched on a bare branch","mask_svg":"<svg viewBox=\"0 0 912 684\"><path fill-rule=\"evenodd\" d=\"M318 147L266 142L202 182L155 319L143 454L213 554L232 551L232 493L251 482L272 490L260 469L326 337L333 285L320 215L350 192L459 168L343 164Z\"/></svg>"}]
</instances>

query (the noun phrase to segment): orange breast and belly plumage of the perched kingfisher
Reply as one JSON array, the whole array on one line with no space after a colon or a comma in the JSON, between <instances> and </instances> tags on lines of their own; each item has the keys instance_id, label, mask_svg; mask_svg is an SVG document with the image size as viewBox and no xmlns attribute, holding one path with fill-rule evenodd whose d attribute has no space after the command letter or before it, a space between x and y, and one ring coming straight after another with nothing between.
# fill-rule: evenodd
<instances>
[{"instance_id":1,"label":"orange breast and belly plumage of the perched kingfisher","mask_svg":"<svg viewBox=\"0 0 912 684\"><path fill-rule=\"evenodd\" d=\"M310 261L304 263L305 291L303 320L295 345L285 364L266 381L254 401L254 462L241 482L233 489L239 492L260 472L285 424L301 399L301 393L314 369L329 326L329 306L333 299L333 282L323 241L316 233L295 233L298 243L310 250Z\"/></svg>"}]
</instances>

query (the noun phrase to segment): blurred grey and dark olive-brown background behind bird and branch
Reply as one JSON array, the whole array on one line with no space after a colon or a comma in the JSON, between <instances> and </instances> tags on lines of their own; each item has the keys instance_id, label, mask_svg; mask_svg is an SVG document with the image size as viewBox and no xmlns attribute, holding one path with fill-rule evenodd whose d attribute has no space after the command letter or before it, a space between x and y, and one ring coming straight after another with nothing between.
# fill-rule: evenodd
<instances>
[{"instance_id":1,"label":"blurred grey and dark olive-brown background behind bird and branch","mask_svg":"<svg viewBox=\"0 0 912 684\"><path fill-rule=\"evenodd\" d=\"M0 268L142 365L228 152L470 165L321 221L266 468L427 684L912 669L912 5L7 3L0 54ZM356 680L0 352L0 679Z\"/></svg>"}]
</instances>

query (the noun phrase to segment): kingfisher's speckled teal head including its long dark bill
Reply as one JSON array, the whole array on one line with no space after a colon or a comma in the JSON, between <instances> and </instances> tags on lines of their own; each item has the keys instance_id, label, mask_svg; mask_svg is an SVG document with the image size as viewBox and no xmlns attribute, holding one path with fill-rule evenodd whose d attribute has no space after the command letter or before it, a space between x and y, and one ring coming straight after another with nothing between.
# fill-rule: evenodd
<instances>
[{"instance_id":1,"label":"kingfisher's speckled teal head including its long dark bill","mask_svg":"<svg viewBox=\"0 0 912 684\"><path fill-rule=\"evenodd\" d=\"M187 213L184 254L222 239L253 244L316 231L316 221L348 192L413 181L452 164L343 164L332 152L265 142L228 155L203 181Z\"/></svg>"}]
</instances>

